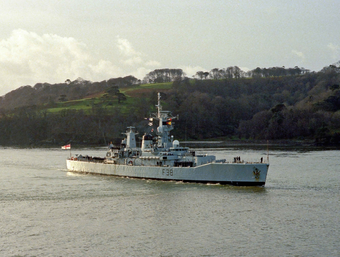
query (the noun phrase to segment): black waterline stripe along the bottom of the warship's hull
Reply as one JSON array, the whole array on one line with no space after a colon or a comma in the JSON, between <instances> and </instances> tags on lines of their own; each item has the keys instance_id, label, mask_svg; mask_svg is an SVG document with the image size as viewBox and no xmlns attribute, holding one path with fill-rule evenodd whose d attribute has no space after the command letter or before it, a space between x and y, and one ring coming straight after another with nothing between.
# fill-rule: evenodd
<instances>
[{"instance_id":1,"label":"black waterline stripe along the bottom of the warship's hull","mask_svg":"<svg viewBox=\"0 0 340 257\"><path fill-rule=\"evenodd\" d=\"M70 171L77 172L77 173L112 176L112 177L126 177L126 178L137 178L137 179L151 179L151 180L158 180L158 181L178 181L178 182L183 182L183 183L220 184L220 185L248 186L248 187L264 186L266 183L266 182L249 182L249 181L208 181L208 180L169 179L169 178L153 178L153 177L134 177L134 176L101 174L101 173L95 173L95 172L82 172L82 171L74 171L74 170L70 170Z\"/></svg>"}]
</instances>

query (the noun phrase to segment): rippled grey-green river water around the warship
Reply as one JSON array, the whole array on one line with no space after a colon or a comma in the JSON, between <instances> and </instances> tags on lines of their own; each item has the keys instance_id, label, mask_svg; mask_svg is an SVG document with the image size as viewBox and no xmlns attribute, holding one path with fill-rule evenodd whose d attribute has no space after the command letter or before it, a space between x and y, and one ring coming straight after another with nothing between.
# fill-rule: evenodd
<instances>
[{"instance_id":1,"label":"rippled grey-green river water around the warship","mask_svg":"<svg viewBox=\"0 0 340 257\"><path fill-rule=\"evenodd\" d=\"M267 159L266 146L195 150ZM0 153L0 256L340 256L338 149L270 149L265 187L77 174L69 150Z\"/></svg>"}]
</instances>

